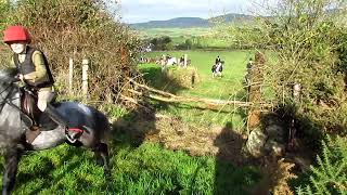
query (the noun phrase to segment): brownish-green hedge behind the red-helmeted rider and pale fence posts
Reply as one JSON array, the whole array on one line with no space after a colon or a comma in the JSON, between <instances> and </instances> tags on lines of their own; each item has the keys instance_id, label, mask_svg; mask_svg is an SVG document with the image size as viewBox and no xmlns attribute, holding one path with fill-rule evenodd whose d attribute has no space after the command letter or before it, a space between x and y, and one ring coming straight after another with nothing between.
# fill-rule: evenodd
<instances>
[{"instance_id":1,"label":"brownish-green hedge behind the red-helmeted rider and pale fence posts","mask_svg":"<svg viewBox=\"0 0 347 195\"><path fill-rule=\"evenodd\" d=\"M91 101L114 103L124 78L139 78L133 68L139 39L115 21L117 13L110 12L103 0L20 0L7 18L12 20L5 25L22 24L29 29L33 44L48 55L61 93L67 91L69 57L75 62L75 83L80 83L82 58L92 63ZM1 57L0 64L7 64L7 58ZM75 86L75 94L80 94L79 87Z\"/></svg>"}]
</instances>

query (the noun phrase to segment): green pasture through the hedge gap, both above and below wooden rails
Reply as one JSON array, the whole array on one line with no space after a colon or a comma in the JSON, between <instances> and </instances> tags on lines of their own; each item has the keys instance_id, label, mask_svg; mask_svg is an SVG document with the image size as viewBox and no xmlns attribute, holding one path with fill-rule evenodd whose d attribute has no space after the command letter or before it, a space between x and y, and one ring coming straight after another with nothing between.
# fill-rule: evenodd
<instances>
[{"instance_id":1,"label":"green pasture through the hedge gap, both above and below wooden rails","mask_svg":"<svg viewBox=\"0 0 347 195\"><path fill-rule=\"evenodd\" d=\"M196 96L214 100L246 100L246 90L244 89L244 76L246 74L246 63L253 57L252 51L170 51L152 52L146 56L155 57L162 54L170 54L180 57L188 54L191 60L191 66L196 68L198 82L191 88L181 87L170 79L163 78L160 66L156 64L140 64L139 68L144 74L149 84L164 91L168 91L182 96ZM216 56L219 55L224 61L223 76L213 78L211 65ZM172 67L176 68L176 67ZM176 68L178 72L184 72L184 68ZM245 122L245 110L233 106L213 107L211 109L202 109L198 104L159 104L159 110L166 114L177 116L197 123L219 123L231 122L234 129L242 130Z\"/></svg>"}]
</instances>

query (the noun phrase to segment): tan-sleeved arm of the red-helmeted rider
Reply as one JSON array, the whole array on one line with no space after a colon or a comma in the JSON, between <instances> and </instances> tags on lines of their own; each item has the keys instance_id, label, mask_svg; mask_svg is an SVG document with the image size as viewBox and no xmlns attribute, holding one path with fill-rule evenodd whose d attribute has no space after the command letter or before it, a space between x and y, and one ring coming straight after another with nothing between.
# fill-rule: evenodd
<instances>
[{"instance_id":1,"label":"tan-sleeved arm of the red-helmeted rider","mask_svg":"<svg viewBox=\"0 0 347 195\"><path fill-rule=\"evenodd\" d=\"M30 80L31 82L36 82L40 79L47 77L47 69L44 65L43 54L39 51L35 51L33 53L33 63L35 66L35 72L25 75L25 79Z\"/></svg>"}]
</instances>

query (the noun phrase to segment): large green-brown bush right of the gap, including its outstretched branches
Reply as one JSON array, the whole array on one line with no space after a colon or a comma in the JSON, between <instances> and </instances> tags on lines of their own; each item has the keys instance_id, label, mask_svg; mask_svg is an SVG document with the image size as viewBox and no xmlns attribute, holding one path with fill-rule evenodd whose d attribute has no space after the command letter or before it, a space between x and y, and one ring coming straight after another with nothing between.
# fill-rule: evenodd
<instances>
[{"instance_id":1,"label":"large green-brown bush right of the gap, including its outstretched branches","mask_svg":"<svg viewBox=\"0 0 347 195\"><path fill-rule=\"evenodd\" d=\"M347 30L339 23L345 11L346 1L340 0L281 0L269 11L272 17L227 29L236 42L267 53L264 86L274 92L275 105L295 105L287 116L297 119L308 138L347 134ZM294 100L295 83L301 91Z\"/></svg>"}]
</instances>

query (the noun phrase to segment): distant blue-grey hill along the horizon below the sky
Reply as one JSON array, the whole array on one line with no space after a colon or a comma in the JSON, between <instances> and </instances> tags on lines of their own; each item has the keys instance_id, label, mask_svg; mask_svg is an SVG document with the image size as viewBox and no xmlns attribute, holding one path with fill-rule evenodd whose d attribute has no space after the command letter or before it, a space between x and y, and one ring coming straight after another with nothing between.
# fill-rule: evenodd
<instances>
[{"instance_id":1,"label":"distant blue-grey hill along the horizon below the sky","mask_svg":"<svg viewBox=\"0 0 347 195\"><path fill-rule=\"evenodd\" d=\"M192 27L208 27L213 26L214 22L236 22L236 21L247 21L253 18L253 16L244 14L226 14L208 20L201 17L177 17L168 21L151 21L147 23L134 23L130 24L130 27L141 29L141 28L192 28Z\"/></svg>"}]
</instances>

